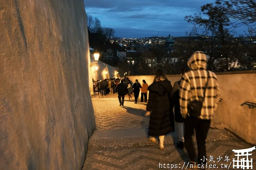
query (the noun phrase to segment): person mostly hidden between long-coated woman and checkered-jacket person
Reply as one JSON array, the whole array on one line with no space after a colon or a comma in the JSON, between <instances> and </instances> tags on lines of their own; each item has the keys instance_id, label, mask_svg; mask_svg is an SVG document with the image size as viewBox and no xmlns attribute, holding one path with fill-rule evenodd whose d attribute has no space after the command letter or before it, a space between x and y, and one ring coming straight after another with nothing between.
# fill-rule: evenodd
<instances>
[{"instance_id":1,"label":"person mostly hidden between long-coated woman and checkered-jacket person","mask_svg":"<svg viewBox=\"0 0 256 170\"><path fill-rule=\"evenodd\" d=\"M188 68L183 68L181 70L181 76L187 72ZM184 147L184 118L180 114L180 100L179 100L179 93L180 93L180 80L176 81L173 84L172 88L172 95L171 95L171 110L173 110L174 107L174 117L175 117L175 127L177 129L177 136L179 143L177 144L178 148L183 149Z\"/></svg>"}]
</instances>

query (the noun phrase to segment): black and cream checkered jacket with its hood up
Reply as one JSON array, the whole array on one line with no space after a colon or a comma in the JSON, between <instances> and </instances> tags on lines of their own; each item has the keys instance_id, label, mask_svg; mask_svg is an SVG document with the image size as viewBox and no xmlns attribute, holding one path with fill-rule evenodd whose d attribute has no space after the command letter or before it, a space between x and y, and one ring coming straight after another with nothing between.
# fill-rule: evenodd
<instances>
[{"instance_id":1,"label":"black and cream checkered jacket with its hood up","mask_svg":"<svg viewBox=\"0 0 256 170\"><path fill-rule=\"evenodd\" d=\"M180 80L180 112L186 118L188 103L194 100L203 101L205 85L207 82L207 59L204 52L196 51L188 60L191 69L182 75ZM209 80L205 91L203 108L199 119L212 119L220 100L220 88L217 76L209 71Z\"/></svg>"}]
</instances>

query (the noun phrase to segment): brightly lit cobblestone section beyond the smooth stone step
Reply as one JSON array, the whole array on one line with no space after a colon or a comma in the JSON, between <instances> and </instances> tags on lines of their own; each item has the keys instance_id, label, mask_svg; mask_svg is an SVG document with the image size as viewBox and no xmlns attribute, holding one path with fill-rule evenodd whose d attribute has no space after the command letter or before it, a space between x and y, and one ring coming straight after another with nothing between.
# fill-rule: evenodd
<instances>
[{"instance_id":1,"label":"brightly lit cobblestone section beyond the smooth stone step","mask_svg":"<svg viewBox=\"0 0 256 170\"><path fill-rule=\"evenodd\" d=\"M134 100L129 101L126 95L124 98L124 107L120 107L117 94L96 97L102 97L100 99L92 99L96 129L148 127L149 118L144 116L147 103L138 102L134 104Z\"/></svg>"}]
</instances>

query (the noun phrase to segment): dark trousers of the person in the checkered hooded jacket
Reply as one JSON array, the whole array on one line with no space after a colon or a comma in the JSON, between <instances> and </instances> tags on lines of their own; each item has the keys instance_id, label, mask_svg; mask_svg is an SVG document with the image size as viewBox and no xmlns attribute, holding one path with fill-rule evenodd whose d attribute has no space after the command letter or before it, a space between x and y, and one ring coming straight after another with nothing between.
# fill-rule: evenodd
<instances>
[{"instance_id":1,"label":"dark trousers of the person in the checkered hooded jacket","mask_svg":"<svg viewBox=\"0 0 256 170\"><path fill-rule=\"evenodd\" d=\"M186 150L188 152L188 157L191 161L196 162L196 152L194 148L194 143L192 140L192 135L194 134L194 129L196 130L196 142L197 142L197 162L199 164L204 162L204 158L206 158L206 147L205 140L207 137L207 133L211 124L211 120L202 120L194 117L187 117L185 119L184 125L184 144ZM201 160L202 159L202 160Z\"/></svg>"}]
</instances>

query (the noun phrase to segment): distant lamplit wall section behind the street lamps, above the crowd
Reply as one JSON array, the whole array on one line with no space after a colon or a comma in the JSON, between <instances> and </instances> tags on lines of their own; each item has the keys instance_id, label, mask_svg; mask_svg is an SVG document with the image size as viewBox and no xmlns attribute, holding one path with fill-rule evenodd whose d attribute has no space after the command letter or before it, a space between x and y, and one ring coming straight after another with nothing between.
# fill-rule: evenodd
<instances>
[{"instance_id":1,"label":"distant lamplit wall section behind the street lamps, above the crowd","mask_svg":"<svg viewBox=\"0 0 256 170\"><path fill-rule=\"evenodd\" d=\"M90 54L90 56L91 56L91 63L96 62L94 60L93 54ZM95 69L96 67L98 67L98 70ZM92 71L92 78L96 81L96 80L101 80L105 78L108 79L108 78L116 77L117 68L112 67L101 61L98 61L98 64L95 64L94 66L91 67L91 71Z\"/></svg>"}]
</instances>

